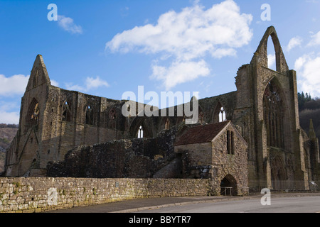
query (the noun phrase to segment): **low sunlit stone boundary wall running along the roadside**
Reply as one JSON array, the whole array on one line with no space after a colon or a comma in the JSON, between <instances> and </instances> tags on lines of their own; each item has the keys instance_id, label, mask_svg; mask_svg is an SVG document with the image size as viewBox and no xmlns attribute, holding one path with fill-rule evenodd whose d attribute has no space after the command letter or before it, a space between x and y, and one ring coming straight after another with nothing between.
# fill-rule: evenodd
<instances>
[{"instance_id":1,"label":"low sunlit stone boundary wall running along the roadside","mask_svg":"<svg viewBox=\"0 0 320 227\"><path fill-rule=\"evenodd\" d=\"M148 197L206 196L208 192L208 179L0 178L0 213L42 212Z\"/></svg>"}]
</instances>

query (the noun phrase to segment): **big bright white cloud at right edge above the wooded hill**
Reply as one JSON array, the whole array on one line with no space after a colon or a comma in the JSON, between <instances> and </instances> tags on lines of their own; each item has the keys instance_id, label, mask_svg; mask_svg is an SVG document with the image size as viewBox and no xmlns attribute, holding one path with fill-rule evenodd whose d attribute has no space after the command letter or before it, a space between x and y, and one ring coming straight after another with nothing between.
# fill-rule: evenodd
<instances>
[{"instance_id":1,"label":"big bright white cloud at right edge above the wooded hill","mask_svg":"<svg viewBox=\"0 0 320 227\"><path fill-rule=\"evenodd\" d=\"M295 64L300 90L320 97L320 53L303 55Z\"/></svg>"}]
</instances>

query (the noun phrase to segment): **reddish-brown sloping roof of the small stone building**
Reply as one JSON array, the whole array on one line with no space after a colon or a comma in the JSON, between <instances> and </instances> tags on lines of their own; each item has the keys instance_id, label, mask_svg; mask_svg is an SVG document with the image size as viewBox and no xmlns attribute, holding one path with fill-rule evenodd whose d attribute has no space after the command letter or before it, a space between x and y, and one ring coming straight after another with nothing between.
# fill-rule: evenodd
<instances>
[{"instance_id":1,"label":"reddish-brown sloping roof of the small stone building","mask_svg":"<svg viewBox=\"0 0 320 227\"><path fill-rule=\"evenodd\" d=\"M174 145L211 142L229 122L230 121L223 121L220 123L210 123L204 126L188 128L176 139L176 143Z\"/></svg>"}]
</instances>

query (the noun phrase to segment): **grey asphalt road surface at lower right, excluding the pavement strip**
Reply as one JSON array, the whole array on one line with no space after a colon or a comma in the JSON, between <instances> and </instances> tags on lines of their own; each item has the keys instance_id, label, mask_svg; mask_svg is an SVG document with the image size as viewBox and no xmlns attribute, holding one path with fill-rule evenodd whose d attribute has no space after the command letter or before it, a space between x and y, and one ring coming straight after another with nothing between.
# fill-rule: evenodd
<instances>
[{"instance_id":1,"label":"grey asphalt road surface at lower right, excluding the pavement strip","mask_svg":"<svg viewBox=\"0 0 320 227\"><path fill-rule=\"evenodd\" d=\"M320 212L320 196L271 197L270 206L262 206L260 199L218 201L186 204L141 213L316 213Z\"/></svg>"}]
</instances>

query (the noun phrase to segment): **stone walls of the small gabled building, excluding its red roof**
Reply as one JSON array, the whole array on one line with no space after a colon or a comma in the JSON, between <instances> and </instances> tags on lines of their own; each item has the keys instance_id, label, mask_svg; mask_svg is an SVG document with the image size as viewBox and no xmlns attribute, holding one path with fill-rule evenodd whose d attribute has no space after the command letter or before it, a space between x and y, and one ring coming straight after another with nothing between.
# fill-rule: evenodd
<instances>
[{"instance_id":1,"label":"stone walls of the small gabled building, excluding its red roof","mask_svg":"<svg viewBox=\"0 0 320 227\"><path fill-rule=\"evenodd\" d=\"M227 150L228 131L233 132L232 154L228 154ZM222 180L230 177L235 181L235 194L247 194L247 143L231 124L213 142L178 145L175 151L182 153L183 177L212 179L212 194L220 194Z\"/></svg>"}]
</instances>

